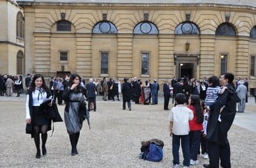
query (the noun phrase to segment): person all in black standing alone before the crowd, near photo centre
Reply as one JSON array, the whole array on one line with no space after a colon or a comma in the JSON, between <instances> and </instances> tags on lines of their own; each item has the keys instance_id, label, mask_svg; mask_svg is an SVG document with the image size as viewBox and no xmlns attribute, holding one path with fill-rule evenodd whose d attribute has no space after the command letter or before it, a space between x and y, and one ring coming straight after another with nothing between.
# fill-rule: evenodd
<instances>
[{"instance_id":1,"label":"person all in black standing alone before the crowd, near photo centre","mask_svg":"<svg viewBox=\"0 0 256 168\"><path fill-rule=\"evenodd\" d=\"M123 109L125 109L125 103L127 102L129 111L131 111L131 99L133 99L133 88L131 83L127 82L127 78L124 78L124 83L121 87L121 92L123 94Z\"/></svg>"}]
</instances>

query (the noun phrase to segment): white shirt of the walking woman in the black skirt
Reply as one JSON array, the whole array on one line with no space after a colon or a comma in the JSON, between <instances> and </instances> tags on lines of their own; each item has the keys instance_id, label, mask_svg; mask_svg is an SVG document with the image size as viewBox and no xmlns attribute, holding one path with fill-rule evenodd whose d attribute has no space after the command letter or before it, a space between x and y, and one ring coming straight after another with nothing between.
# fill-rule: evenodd
<instances>
[{"instance_id":1,"label":"white shirt of the walking woman in the black skirt","mask_svg":"<svg viewBox=\"0 0 256 168\"><path fill-rule=\"evenodd\" d=\"M34 92L32 92L32 105L33 106L39 106L44 101L47 100L47 93L43 90L36 89ZM30 110L28 106L29 101L29 95L26 95L26 119L30 119Z\"/></svg>"}]
</instances>

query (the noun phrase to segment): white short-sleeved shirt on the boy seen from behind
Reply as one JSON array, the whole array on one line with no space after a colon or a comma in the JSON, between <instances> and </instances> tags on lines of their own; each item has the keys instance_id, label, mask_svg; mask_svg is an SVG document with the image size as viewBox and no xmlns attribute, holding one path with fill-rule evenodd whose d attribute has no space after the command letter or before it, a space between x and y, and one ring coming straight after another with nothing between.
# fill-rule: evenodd
<instances>
[{"instance_id":1,"label":"white short-sleeved shirt on the boy seen from behind","mask_svg":"<svg viewBox=\"0 0 256 168\"><path fill-rule=\"evenodd\" d=\"M185 105L172 107L168 118L173 122L172 133L176 135L189 134L189 120L192 120L193 117L193 111Z\"/></svg>"}]
</instances>

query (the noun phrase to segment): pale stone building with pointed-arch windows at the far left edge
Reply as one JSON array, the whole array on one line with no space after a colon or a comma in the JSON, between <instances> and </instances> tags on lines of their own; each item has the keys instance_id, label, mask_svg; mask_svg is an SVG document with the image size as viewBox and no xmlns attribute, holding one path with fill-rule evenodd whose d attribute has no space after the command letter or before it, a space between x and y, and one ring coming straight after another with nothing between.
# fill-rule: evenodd
<instances>
[{"instance_id":1,"label":"pale stone building with pointed-arch windows at the far left edge","mask_svg":"<svg viewBox=\"0 0 256 168\"><path fill-rule=\"evenodd\" d=\"M0 1L0 74L24 74L24 14L15 1Z\"/></svg>"}]
</instances>

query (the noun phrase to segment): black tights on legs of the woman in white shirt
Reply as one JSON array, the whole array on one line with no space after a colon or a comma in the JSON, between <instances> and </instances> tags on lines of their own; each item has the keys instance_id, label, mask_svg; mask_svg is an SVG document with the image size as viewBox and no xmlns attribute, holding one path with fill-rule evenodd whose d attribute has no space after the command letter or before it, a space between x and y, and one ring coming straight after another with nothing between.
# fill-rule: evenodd
<instances>
[{"instance_id":1,"label":"black tights on legs of the woman in white shirt","mask_svg":"<svg viewBox=\"0 0 256 168\"><path fill-rule=\"evenodd\" d=\"M40 133L42 138L42 148L46 148L48 125L34 126L34 142L36 144L36 150L40 152Z\"/></svg>"}]
</instances>

